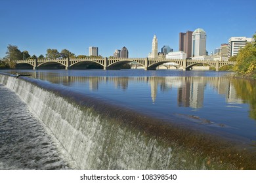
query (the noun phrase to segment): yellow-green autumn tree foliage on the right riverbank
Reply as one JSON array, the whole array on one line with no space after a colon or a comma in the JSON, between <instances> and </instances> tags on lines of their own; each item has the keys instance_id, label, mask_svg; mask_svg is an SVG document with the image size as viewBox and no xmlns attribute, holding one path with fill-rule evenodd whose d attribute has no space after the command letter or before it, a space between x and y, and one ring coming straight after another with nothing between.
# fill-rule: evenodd
<instances>
[{"instance_id":1,"label":"yellow-green autumn tree foliage on the right riverbank","mask_svg":"<svg viewBox=\"0 0 256 183\"><path fill-rule=\"evenodd\" d=\"M256 35L254 35L253 37L256 38ZM240 76L246 76L256 79L255 42L247 44L239 51L233 70Z\"/></svg>"}]
</instances>

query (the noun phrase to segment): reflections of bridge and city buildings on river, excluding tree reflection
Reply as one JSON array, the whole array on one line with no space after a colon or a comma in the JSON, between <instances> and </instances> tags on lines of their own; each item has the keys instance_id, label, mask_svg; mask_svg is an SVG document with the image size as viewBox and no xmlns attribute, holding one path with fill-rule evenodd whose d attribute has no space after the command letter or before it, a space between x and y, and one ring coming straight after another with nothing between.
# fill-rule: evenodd
<instances>
[{"instance_id":1,"label":"reflections of bridge and city buildings on river, excluding tree reflection","mask_svg":"<svg viewBox=\"0 0 256 183\"><path fill-rule=\"evenodd\" d=\"M110 76L58 76L53 73L32 73L34 78L49 80L55 84L74 86L75 84L89 86L91 92L96 92L101 83L113 83L115 90L126 91L129 83L144 82L150 85L152 103L156 103L158 90L169 92L177 90L177 106L202 108L205 101L205 88L207 85L215 92L224 95L227 103L242 103L242 99L237 97L234 84L227 77L176 77L176 76L137 76L137 77L110 77ZM88 85L86 85L88 83ZM114 90L114 89L113 89ZM173 93L173 92L170 92ZM135 93L136 95L136 93ZM170 96L173 97L173 96Z\"/></svg>"}]
</instances>

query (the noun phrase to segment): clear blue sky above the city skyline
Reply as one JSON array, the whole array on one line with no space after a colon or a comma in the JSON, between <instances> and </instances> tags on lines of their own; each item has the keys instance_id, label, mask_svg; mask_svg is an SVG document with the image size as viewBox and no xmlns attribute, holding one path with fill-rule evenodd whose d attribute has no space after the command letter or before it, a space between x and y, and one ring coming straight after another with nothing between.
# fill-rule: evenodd
<instances>
[{"instance_id":1,"label":"clear blue sky above the city skyline","mask_svg":"<svg viewBox=\"0 0 256 183\"><path fill-rule=\"evenodd\" d=\"M129 57L145 58L154 34L158 50L179 50L179 33L202 28L211 53L230 37L252 37L256 31L255 0L0 0L0 58L8 44L30 55L48 48L89 54L97 46L112 56L123 46Z\"/></svg>"}]
</instances>

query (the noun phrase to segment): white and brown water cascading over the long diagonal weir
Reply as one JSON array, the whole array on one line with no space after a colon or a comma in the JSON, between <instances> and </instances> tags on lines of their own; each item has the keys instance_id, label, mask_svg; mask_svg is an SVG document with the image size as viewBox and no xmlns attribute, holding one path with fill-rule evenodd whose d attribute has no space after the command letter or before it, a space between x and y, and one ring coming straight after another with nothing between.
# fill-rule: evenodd
<instances>
[{"instance_id":1,"label":"white and brown water cascading over the long diagonal weir","mask_svg":"<svg viewBox=\"0 0 256 183\"><path fill-rule=\"evenodd\" d=\"M0 75L0 83L20 95L51 130L79 169L240 169L224 149L201 152L202 136L98 101L64 86ZM181 135L181 137L177 137ZM172 139L177 137L176 139ZM192 145L188 146L191 138ZM191 142L190 141L190 142ZM205 145L204 144L204 145ZM203 145L203 144L202 144ZM211 144L209 144L211 146ZM234 160L235 159L235 160ZM249 165L247 168L251 169Z\"/></svg>"}]
</instances>

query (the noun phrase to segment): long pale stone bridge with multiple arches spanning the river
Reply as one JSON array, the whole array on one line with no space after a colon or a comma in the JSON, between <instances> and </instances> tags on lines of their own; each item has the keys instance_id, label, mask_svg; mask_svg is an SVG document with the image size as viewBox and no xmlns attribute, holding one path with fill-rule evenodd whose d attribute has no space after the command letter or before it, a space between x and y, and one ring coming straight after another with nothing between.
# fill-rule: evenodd
<instances>
[{"instance_id":1,"label":"long pale stone bridge with multiple arches spanning the river","mask_svg":"<svg viewBox=\"0 0 256 183\"><path fill-rule=\"evenodd\" d=\"M190 70L194 65L204 63L215 67L216 71L224 65L234 65L232 61L202 61L193 59L150 59L150 58L66 58L66 59L26 59L14 61L18 64L29 64L33 66L33 69L38 69L43 65L58 63L66 67L66 69L72 69L79 63L95 63L100 65L104 70L106 69L120 69L121 65L125 63L135 62L138 65L144 67L145 70L156 70L156 67L163 63L176 63L183 68L184 71Z\"/></svg>"}]
</instances>

